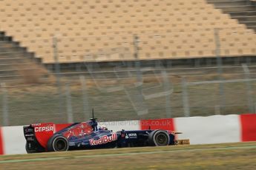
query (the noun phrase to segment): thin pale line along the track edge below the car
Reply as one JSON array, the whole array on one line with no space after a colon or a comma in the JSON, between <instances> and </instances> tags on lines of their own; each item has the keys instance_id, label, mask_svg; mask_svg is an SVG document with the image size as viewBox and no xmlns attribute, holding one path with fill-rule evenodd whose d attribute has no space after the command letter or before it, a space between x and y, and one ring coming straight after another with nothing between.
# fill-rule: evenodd
<instances>
[{"instance_id":1,"label":"thin pale line along the track edge below the car","mask_svg":"<svg viewBox=\"0 0 256 170\"><path fill-rule=\"evenodd\" d=\"M93 155L81 155L81 156L68 156L68 157L45 157L45 158L34 158L24 160L0 160L0 163L23 163L23 162L35 162L35 161L46 161L46 160L63 160L68 158L85 158L85 157L119 157L129 156L137 154L161 154L161 153L177 153L177 152L198 152L198 151L214 151L214 150L228 150L228 149L256 149L256 146L231 146L231 147L220 147L220 148L205 148L205 149L180 149L175 151L155 151L155 152L131 152L124 154L93 154ZM256 151L255 151L256 152Z\"/></svg>"}]
</instances>

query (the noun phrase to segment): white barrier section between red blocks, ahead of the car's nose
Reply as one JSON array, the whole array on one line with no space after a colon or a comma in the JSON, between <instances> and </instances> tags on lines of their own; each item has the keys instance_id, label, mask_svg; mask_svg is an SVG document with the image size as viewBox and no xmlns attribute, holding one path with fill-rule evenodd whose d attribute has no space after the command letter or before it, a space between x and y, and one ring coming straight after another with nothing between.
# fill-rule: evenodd
<instances>
[{"instance_id":1,"label":"white barrier section between red blocks, ahead of the car's nose","mask_svg":"<svg viewBox=\"0 0 256 170\"><path fill-rule=\"evenodd\" d=\"M240 142L238 115L176 118L175 127L180 138L190 139L191 144Z\"/></svg>"}]
</instances>

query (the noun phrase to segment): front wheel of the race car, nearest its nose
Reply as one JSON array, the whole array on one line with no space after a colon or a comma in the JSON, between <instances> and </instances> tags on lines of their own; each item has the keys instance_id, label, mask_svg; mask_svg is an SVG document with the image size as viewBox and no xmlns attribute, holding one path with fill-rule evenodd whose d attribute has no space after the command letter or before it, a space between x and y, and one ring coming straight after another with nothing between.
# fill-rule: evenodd
<instances>
[{"instance_id":1,"label":"front wheel of the race car, nearest its nose","mask_svg":"<svg viewBox=\"0 0 256 170\"><path fill-rule=\"evenodd\" d=\"M150 146L168 146L170 137L166 131L154 130L148 136L148 143Z\"/></svg>"}]
</instances>

